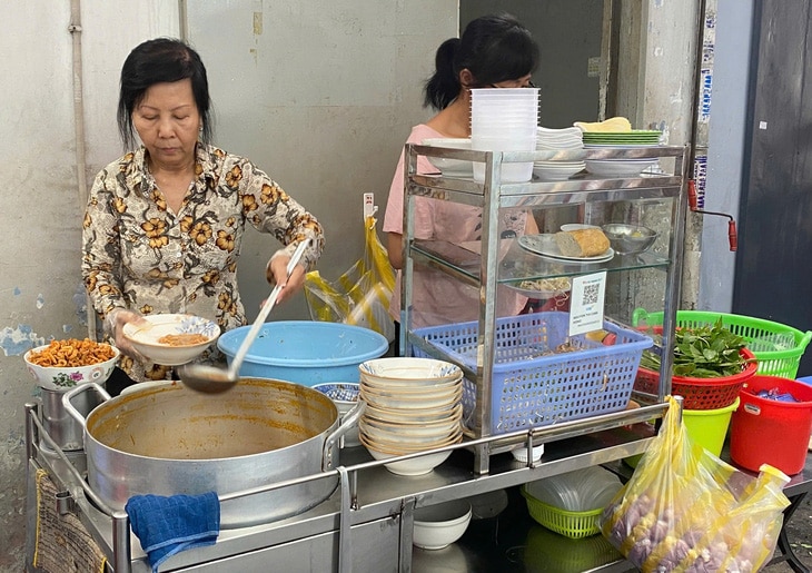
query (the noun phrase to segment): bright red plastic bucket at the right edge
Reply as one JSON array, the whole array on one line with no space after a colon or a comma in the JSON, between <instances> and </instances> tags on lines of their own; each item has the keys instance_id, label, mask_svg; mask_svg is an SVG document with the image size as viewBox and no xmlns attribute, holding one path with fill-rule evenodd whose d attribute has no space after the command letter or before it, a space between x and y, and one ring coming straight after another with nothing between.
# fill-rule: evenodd
<instances>
[{"instance_id":1,"label":"bright red plastic bucket at the right edge","mask_svg":"<svg viewBox=\"0 0 812 573\"><path fill-rule=\"evenodd\" d=\"M761 391L791 394L799 402L762 398ZM803 470L812 434L812 386L779 376L755 375L739 394L731 419L731 460L757 472L770 464L788 475Z\"/></svg>"}]
</instances>

